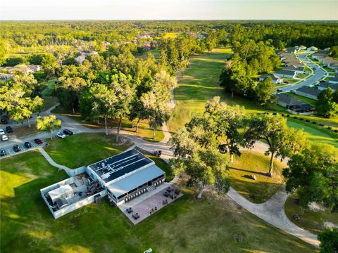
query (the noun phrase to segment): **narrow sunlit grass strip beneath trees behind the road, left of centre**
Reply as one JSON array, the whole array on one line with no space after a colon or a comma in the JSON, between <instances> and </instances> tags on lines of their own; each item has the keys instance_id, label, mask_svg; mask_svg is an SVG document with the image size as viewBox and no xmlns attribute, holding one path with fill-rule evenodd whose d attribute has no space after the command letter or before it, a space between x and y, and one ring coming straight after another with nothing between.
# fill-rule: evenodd
<instances>
[{"instance_id":1,"label":"narrow sunlit grass strip beneath trees behind the road, left of centre","mask_svg":"<svg viewBox=\"0 0 338 253\"><path fill-rule=\"evenodd\" d=\"M52 113L61 113L62 115L71 117L72 119L75 119L80 124L91 128L91 129L104 129L104 122L101 120L98 122L85 122L82 120L82 117L80 114L73 115L69 110L65 110L61 106L58 106L58 108L51 111ZM134 120L134 122L130 122L127 119L123 119L122 121L122 130L129 131L130 133L135 132L135 126L137 124L137 119ZM118 127L118 120L108 119L108 128L117 128ZM148 120L142 120L139 122L139 131L136 134L137 136L143 137L146 141L162 141L164 138L164 134L162 131L162 127L158 127L155 132L155 140L153 140L153 129L149 126Z\"/></svg>"}]
</instances>

